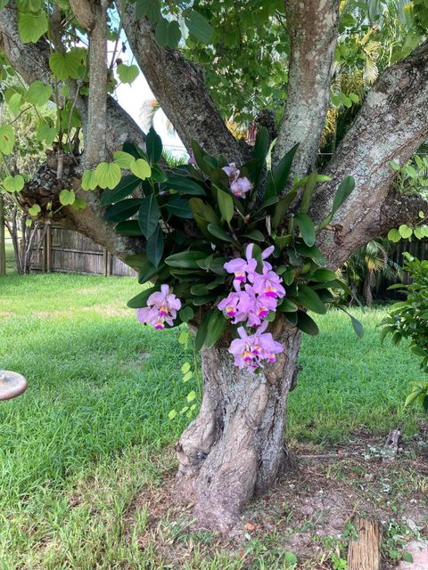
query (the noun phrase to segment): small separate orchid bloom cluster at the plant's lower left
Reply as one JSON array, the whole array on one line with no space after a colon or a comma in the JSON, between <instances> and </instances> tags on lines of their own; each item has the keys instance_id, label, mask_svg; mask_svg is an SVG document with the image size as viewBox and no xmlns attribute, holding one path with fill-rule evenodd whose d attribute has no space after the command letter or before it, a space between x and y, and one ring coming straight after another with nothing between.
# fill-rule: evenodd
<instances>
[{"instance_id":1,"label":"small separate orchid bloom cluster at the plant's lower left","mask_svg":"<svg viewBox=\"0 0 428 570\"><path fill-rule=\"evenodd\" d=\"M161 290L147 299L147 306L137 309L136 317L143 324L151 324L153 329L165 329L165 322L172 326L180 309L181 301L170 292L169 285L161 285Z\"/></svg>"}]
</instances>

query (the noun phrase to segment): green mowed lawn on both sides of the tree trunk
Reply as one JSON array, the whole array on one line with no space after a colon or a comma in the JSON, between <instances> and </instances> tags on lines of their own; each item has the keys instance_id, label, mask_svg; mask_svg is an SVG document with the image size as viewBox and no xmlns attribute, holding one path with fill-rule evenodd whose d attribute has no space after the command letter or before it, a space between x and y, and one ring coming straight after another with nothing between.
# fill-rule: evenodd
<instances>
[{"instance_id":1,"label":"green mowed lawn on both sides of the tree trunk","mask_svg":"<svg viewBox=\"0 0 428 570\"><path fill-rule=\"evenodd\" d=\"M29 380L25 395L0 403L1 570L171 567L154 544L138 542L147 509L132 531L123 521L137 491L175 468L165 448L188 419L168 413L194 387L180 374L192 356L178 344L179 330L136 322L126 302L139 290L128 278L0 278L0 368ZM352 312L365 325L363 339L333 311L317 317L320 336L304 340L289 406L293 443L417 430L419 411L403 411L420 378L416 358L406 346L381 345L383 310ZM183 567L244 567L218 560Z\"/></svg>"}]
</instances>

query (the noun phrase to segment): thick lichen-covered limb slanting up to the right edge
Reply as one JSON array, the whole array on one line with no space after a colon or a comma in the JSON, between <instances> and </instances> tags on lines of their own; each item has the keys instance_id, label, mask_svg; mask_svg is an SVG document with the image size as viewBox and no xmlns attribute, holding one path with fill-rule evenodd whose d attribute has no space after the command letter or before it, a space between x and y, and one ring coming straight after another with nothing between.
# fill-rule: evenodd
<instances>
[{"instance_id":1,"label":"thick lichen-covered limb slanting up to the right edge","mask_svg":"<svg viewBox=\"0 0 428 570\"><path fill-rule=\"evenodd\" d=\"M412 216L417 214L417 208L428 210L422 199L397 198L393 191L395 172L389 165L391 160L407 162L427 138L428 42L425 42L406 60L386 69L369 91L325 171L332 181L317 189L312 215L320 220L331 208L342 179L352 175L356 181L355 191L333 218L333 222L343 226L341 245L334 243L330 233L324 232L320 237L321 247L333 265L341 265L355 249L391 227L414 221Z\"/></svg>"}]
</instances>

